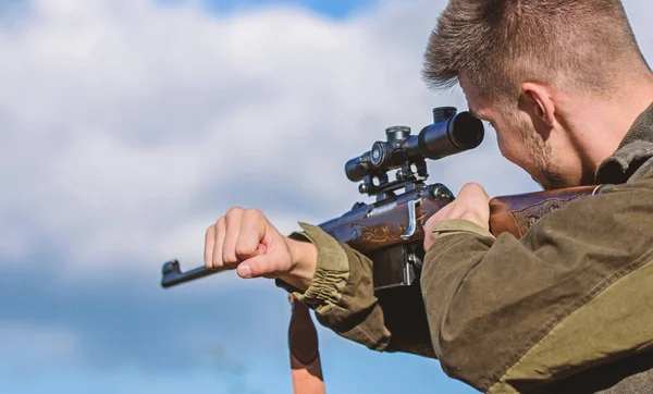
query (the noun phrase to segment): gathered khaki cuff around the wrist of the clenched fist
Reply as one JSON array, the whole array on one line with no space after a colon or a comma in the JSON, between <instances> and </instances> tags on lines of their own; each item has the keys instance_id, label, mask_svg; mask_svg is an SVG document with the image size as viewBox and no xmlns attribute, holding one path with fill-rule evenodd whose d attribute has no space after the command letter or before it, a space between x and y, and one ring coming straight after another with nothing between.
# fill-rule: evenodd
<instances>
[{"instance_id":1,"label":"gathered khaki cuff around the wrist of the clenched fist","mask_svg":"<svg viewBox=\"0 0 653 394\"><path fill-rule=\"evenodd\" d=\"M317 225L301 223L304 232L293 233L291 238L312 243L318 251L318 262L312 282L305 293L276 280L276 285L288 291L304 304L316 309L318 313L326 313L336 306L343 296L349 279L347 254L340 243Z\"/></svg>"}]
</instances>

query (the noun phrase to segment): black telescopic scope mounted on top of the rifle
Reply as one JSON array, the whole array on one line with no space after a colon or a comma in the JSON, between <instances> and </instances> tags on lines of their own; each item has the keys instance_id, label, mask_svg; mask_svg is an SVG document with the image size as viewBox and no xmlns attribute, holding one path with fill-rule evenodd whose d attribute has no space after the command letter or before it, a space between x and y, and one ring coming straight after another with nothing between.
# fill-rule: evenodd
<instances>
[{"instance_id":1,"label":"black telescopic scope mounted on top of the rifle","mask_svg":"<svg viewBox=\"0 0 653 394\"><path fill-rule=\"evenodd\" d=\"M483 123L469 112L457 113L453 107L433 109L433 124L423 127L418 135L410 128L394 126L385 131L386 141L377 141L370 151L345 164L345 173L353 182L368 175L385 173L406 162L423 159L438 160L473 149L483 141Z\"/></svg>"}]
</instances>

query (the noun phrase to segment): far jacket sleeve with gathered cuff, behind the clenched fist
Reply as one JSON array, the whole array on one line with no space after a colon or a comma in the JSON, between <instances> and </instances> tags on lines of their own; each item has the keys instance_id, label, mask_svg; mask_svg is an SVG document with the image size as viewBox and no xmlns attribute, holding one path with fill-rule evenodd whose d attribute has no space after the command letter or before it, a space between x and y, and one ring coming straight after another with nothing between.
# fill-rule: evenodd
<instances>
[{"instance_id":1,"label":"far jacket sleeve with gathered cuff, behind the clenched fist","mask_svg":"<svg viewBox=\"0 0 653 394\"><path fill-rule=\"evenodd\" d=\"M318 267L310 287L300 293L276 284L315 309L318 321L352 341L380 352L434 357L419 286L385 291L377 297L372 261L320 227L300 223L291 237L311 242Z\"/></svg>"}]
</instances>

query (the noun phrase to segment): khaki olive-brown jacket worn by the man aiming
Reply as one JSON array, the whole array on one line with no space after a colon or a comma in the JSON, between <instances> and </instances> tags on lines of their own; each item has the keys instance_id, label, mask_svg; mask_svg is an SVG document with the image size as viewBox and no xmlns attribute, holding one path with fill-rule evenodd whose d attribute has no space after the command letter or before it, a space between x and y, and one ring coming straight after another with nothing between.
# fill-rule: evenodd
<instances>
[{"instance_id":1,"label":"khaki olive-brown jacket worn by the man aiming","mask_svg":"<svg viewBox=\"0 0 653 394\"><path fill-rule=\"evenodd\" d=\"M318 269L294 294L340 335L435 357L482 392L653 393L653 104L595 181L615 186L521 239L436 224L421 288L379 295L370 259L303 224Z\"/></svg>"}]
</instances>

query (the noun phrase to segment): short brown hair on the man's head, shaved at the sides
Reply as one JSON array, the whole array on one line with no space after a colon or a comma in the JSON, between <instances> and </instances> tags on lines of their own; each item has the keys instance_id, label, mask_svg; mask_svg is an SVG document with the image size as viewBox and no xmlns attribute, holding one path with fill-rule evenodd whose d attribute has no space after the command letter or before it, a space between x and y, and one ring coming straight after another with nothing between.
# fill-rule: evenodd
<instances>
[{"instance_id":1,"label":"short brown hair on the man's head, shaved at the sides","mask_svg":"<svg viewBox=\"0 0 653 394\"><path fill-rule=\"evenodd\" d=\"M620 0L451 0L429 39L423 78L447 88L464 74L481 95L502 99L518 97L527 81L602 93L632 71L650 70Z\"/></svg>"}]
</instances>

